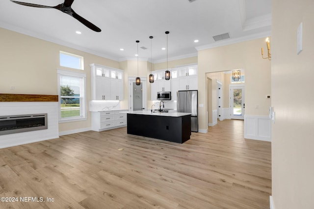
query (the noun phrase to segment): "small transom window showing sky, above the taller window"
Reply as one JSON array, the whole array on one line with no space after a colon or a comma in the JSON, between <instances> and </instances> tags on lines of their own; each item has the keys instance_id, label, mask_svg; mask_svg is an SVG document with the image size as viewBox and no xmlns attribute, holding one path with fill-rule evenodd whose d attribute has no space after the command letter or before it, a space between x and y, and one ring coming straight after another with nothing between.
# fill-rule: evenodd
<instances>
[{"instance_id":1,"label":"small transom window showing sky, above the taller window","mask_svg":"<svg viewBox=\"0 0 314 209\"><path fill-rule=\"evenodd\" d=\"M60 51L60 66L84 70L84 58L82 56Z\"/></svg>"}]
</instances>

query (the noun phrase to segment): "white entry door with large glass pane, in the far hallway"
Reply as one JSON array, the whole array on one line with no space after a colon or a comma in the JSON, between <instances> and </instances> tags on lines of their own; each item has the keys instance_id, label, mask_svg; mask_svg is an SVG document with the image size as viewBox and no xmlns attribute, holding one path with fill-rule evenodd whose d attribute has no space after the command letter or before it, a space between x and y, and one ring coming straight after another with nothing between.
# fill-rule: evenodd
<instances>
[{"instance_id":1,"label":"white entry door with large glass pane, in the far hallway","mask_svg":"<svg viewBox=\"0 0 314 209\"><path fill-rule=\"evenodd\" d=\"M244 120L244 86L230 87L230 116L231 119Z\"/></svg>"}]
</instances>

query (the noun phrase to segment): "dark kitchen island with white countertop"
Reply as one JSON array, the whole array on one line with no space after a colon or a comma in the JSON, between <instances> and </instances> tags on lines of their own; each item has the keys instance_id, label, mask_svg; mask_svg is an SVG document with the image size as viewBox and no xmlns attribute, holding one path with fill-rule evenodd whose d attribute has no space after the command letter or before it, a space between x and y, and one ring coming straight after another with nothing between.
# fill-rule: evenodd
<instances>
[{"instance_id":1,"label":"dark kitchen island with white countertop","mask_svg":"<svg viewBox=\"0 0 314 209\"><path fill-rule=\"evenodd\" d=\"M190 139L191 114L183 112L127 112L128 134L183 143Z\"/></svg>"}]
</instances>

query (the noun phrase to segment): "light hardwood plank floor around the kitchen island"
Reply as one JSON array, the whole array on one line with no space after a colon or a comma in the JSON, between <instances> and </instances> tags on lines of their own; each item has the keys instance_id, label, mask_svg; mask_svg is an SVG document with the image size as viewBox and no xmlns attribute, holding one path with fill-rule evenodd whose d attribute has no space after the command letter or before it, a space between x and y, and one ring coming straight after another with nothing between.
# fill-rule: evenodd
<instances>
[{"instance_id":1,"label":"light hardwood plank floor around the kitchen island","mask_svg":"<svg viewBox=\"0 0 314 209\"><path fill-rule=\"evenodd\" d=\"M0 196L19 198L0 208L269 209L271 143L244 139L243 121L219 121L183 144L126 132L0 149Z\"/></svg>"}]
</instances>

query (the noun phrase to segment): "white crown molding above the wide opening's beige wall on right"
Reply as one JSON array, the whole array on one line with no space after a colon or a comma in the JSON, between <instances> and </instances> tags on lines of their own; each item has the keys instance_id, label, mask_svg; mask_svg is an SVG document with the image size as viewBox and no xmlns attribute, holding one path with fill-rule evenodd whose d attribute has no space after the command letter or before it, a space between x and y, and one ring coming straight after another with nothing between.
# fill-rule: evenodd
<instances>
[{"instance_id":1,"label":"white crown molding above the wide opening's beige wall on right","mask_svg":"<svg viewBox=\"0 0 314 209\"><path fill-rule=\"evenodd\" d=\"M195 49L197 51L207 50L207 49L211 49L211 48L215 48L215 47L222 47L222 46L227 46L230 44L236 44L236 43L240 43L240 42L244 42L244 41L250 41L250 40L254 40L254 39L264 38L267 36L271 36L271 31L266 31L266 32L257 33L257 34L253 34L253 35L243 36L243 37L239 37L239 38L225 39L225 40L218 41L218 42L215 42L212 44L207 44L207 45L195 47Z\"/></svg>"}]
</instances>

